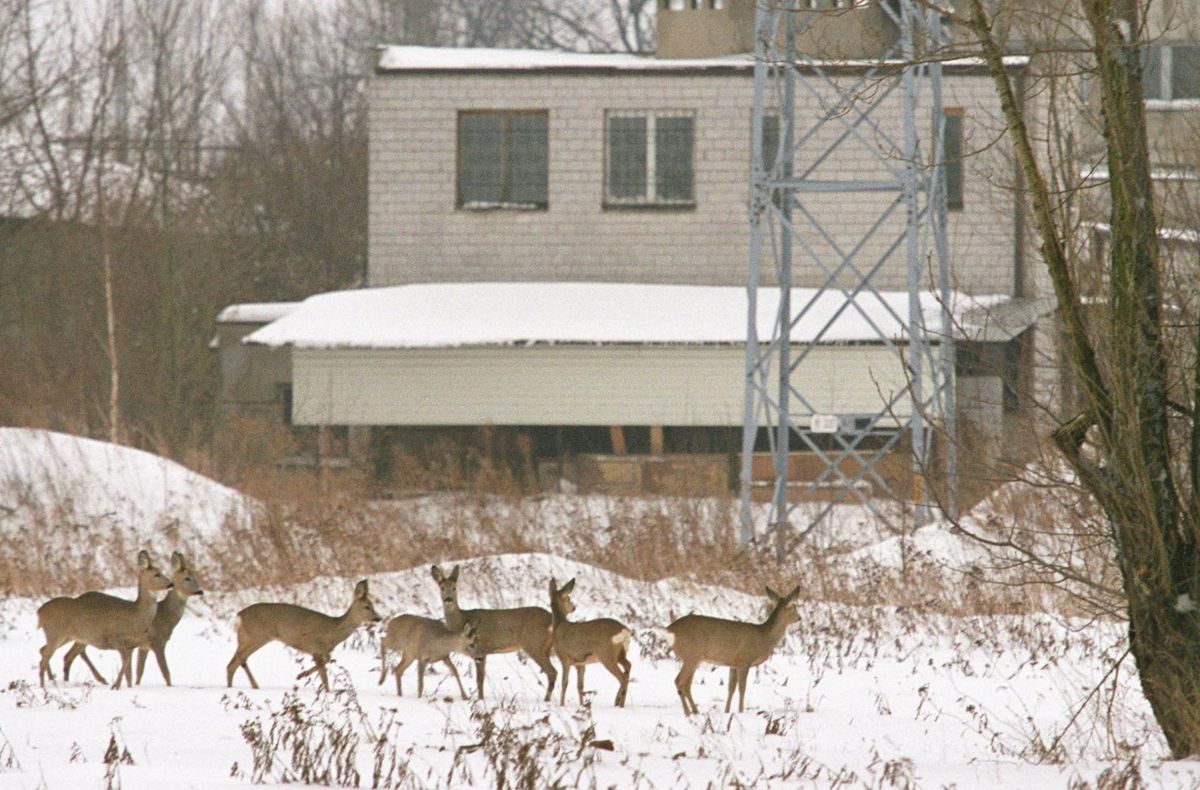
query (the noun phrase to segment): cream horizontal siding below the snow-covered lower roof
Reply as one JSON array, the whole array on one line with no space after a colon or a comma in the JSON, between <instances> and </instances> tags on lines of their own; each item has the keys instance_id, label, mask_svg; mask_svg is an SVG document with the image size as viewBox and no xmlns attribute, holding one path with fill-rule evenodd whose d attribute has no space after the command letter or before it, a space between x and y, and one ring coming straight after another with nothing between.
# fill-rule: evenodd
<instances>
[{"instance_id":1,"label":"cream horizontal siding below the snow-covered lower roof","mask_svg":"<svg viewBox=\"0 0 1200 790\"><path fill-rule=\"evenodd\" d=\"M335 425L740 425L744 354L732 346L298 348L293 417ZM881 346L820 348L798 375L820 413L875 413L880 393L906 385L895 354Z\"/></svg>"}]
</instances>

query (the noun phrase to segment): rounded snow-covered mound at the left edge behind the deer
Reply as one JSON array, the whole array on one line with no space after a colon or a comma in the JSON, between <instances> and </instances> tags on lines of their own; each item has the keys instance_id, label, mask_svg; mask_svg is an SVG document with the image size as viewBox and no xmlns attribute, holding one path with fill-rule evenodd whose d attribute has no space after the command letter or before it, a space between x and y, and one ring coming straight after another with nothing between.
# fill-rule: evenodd
<instances>
[{"instance_id":1,"label":"rounded snow-covered mound at the left edge behind the deer","mask_svg":"<svg viewBox=\"0 0 1200 790\"><path fill-rule=\"evenodd\" d=\"M0 534L208 539L253 501L174 461L66 433L0 429Z\"/></svg>"}]
</instances>

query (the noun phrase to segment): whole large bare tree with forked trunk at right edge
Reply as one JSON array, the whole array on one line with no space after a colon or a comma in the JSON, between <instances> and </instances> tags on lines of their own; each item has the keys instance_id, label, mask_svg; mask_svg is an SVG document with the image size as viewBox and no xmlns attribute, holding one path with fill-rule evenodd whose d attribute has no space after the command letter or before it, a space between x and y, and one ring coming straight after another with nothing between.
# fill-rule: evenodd
<instances>
[{"instance_id":1,"label":"whole large bare tree with forked trunk at right edge","mask_svg":"<svg viewBox=\"0 0 1200 790\"><path fill-rule=\"evenodd\" d=\"M1076 54L1094 86L1103 142L1109 243L1104 311L1081 289L1088 262L1075 244L1080 215L1056 167L1076 167L1058 149L1061 131L1038 128L1006 71L1010 28L983 0L956 17L966 46L988 64L1001 100L1032 223L1061 316L1066 364L1079 388L1078 413L1054 430L1055 444L1108 523L1121 571L1129 645L1171 753L1200 752L1200 340L1194 318L1176 322L1164 291L1159 213L1152 181L1142 92L1146 0L1056 4L1072 35L1058 47ZM944 10L953 16L949 8ZM1038 13L1049 16L1046 8ZM1034 52L1037 54L1037 52ZM1039 152L1039 134L1048 156ZM1056 150L1058 149L1058 150ZM1061 173L1061 169L1058 170ZM1194 282L1194 281L1193 281ZM1194 285L1190 286L1194 291ZM1182 294L1194 304L1194 294Z\"/></svg>"}]
</instances>

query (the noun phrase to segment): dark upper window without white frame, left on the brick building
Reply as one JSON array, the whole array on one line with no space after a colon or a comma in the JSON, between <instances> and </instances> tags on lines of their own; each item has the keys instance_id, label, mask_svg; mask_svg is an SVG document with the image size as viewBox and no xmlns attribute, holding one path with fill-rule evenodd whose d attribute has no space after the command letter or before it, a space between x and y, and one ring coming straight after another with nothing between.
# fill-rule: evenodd
<instances>
[{"instance_id":1,"label":"dark upper window without white frame, left on the brick building","mask_svg":"<svg viewBox=\"0 0 1200 790\"><path fill-rule=\"evenodd\" d=\"M545 209L547 114L458 113L458 208Z\"/></svg>"}]
</instances>

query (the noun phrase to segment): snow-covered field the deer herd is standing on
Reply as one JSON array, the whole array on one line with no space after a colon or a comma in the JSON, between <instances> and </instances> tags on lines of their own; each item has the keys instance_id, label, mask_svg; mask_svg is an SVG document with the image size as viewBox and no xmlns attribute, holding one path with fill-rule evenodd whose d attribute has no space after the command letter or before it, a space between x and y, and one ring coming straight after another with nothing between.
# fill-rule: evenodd
<instances>
[{"instance_id":1,"label":"snow-covered field the deer herd is standing on","mask_svg":"<svg viewBox=\"0 0 1200 790\"><path fill-rule=\"evenodd\" d=\"M164 562L162 535L152 538ZM857 562L888 565L893 539L872 540ZM916 543L948 563L966 561L944 529L930 528ZM574 680L566 706L557 705L558 689L554 702L542 702L542 675L515 654L488 659L482 704L458 699L440 666L431 670L426 699L414 698L415 669L398 698L390 677L376 684L378 633L367 629L335 651L331 694L318 692L312 677L298 683L307 659L277 645L250 659L260 690L241 674L234 689L224 687L240 608L288 600L337 612L354 579L209 589L192 599L167 647L174 688L163 686L151 660L145 683L132 690L92 683L80 663L71 682L43 690L35 611L44 598L10 598L0 603L0 790L253 782L1200 788L1200 762L1164 760L1132 659L1120 662L1120 623L802 600L800 623L751 671L746 712L722 712L726 671L707 668L694 689L702 713L689 718L674 693L678 663L662 627L690 611L757 620L764 597L679 579L637 581L547 553L460 564L464 606L546 606L548 577L577 577L576 620L611 616L634 630L628 706L613 707L617 683L596 665L587 672L587 705L577 704ZM428 565L370 579L384 616L440 615ZM94 656L112 680L115 654ZM457 663L473 692L469 663Z\"/></svg>"}]
</instances>

